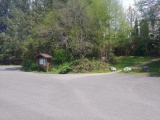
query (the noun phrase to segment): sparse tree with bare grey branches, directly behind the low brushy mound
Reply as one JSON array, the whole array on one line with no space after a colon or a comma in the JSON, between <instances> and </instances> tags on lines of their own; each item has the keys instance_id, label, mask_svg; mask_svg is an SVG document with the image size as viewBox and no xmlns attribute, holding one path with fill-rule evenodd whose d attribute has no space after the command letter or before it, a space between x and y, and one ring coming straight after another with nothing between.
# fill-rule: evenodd
<instances>
[{"instance_id":1,"label":"sparse tree with bare grey branches, directly behind the low brushy mound","mask_svg":"<svg viewBox=\"0 0 160 120\"><path fill-rule=\"evenodd\" d=\"M60 10L61 40L77 58L83 58L92 52L90 18L88 15L90 3L87 0L69 0Z\"/></svg>"}]
</instances>

